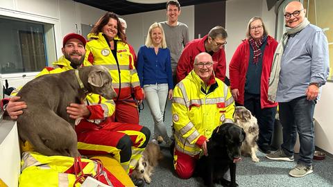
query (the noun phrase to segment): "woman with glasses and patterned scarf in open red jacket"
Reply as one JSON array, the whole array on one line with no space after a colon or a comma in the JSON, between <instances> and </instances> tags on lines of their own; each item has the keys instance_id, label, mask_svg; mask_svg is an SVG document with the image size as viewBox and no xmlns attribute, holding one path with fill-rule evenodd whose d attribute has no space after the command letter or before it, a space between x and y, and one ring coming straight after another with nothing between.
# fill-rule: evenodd
<instances>
[{"instance_id":1,"label":"woman with glasses and patterned scarf in open red jacket","mask_svg":"<svg viewBox=\"0 0 333 187\"><path fill-rule=\"evenodd\" d=\"M276 107L268 101L268 78L278 42L268 35L264 21L248 21L246 39L237 47L229 65L230 87L236 105L244 105L258 120L259 150L271 151Z\"/></svg>"}]
</instances>

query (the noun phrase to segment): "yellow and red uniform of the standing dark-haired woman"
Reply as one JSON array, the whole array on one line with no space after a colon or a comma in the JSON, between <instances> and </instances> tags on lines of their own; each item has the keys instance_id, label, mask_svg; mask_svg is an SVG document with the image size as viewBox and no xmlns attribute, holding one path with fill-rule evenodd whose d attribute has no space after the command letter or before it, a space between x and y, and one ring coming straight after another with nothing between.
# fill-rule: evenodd
<instances>
[{"instance_id":1,"label":"yellow and red uniform of the standing dark-haired woman","mask_svg":"<svg viewBox=\"0 0 333 187\"><path fill-rule=\"evenodd\" d=\"M108 39L103 33L99 33L99 35L90 33L88 39L90 41L85 46L86 59L93 65L103 65L110 70L112 86L118 95L117 98L114 98L116 121L138 124L137 105L131 94L134 90L137 100L144 99L144 94L140 87L130 47L116 36L114 37L114 51L112 51Z\"/></svg>"}]
</instances>

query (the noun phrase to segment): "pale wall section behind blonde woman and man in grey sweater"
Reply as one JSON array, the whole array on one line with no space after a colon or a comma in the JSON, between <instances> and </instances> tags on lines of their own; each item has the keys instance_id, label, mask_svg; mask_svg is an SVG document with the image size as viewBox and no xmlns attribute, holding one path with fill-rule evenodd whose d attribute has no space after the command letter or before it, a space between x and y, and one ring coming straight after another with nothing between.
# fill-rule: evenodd
<instances>
[{"instance_id":1,"label":"pale wall section behind blonde woman and man in grey sweater","mask_svg":"<svg viewBox=\"0 0 333 187\"><path fill-rule=\"evenodd\" d=\"M189 27L189 39L194 39L194 6L185 6L180 9L178 21L187 24ZM166 21L166 10L155 10L142 12L133 15L124 15L127 22L126 35L128 43L133 46L135 52L146 42L148 28L155 21Z\"/></svg>"}]
</instances>

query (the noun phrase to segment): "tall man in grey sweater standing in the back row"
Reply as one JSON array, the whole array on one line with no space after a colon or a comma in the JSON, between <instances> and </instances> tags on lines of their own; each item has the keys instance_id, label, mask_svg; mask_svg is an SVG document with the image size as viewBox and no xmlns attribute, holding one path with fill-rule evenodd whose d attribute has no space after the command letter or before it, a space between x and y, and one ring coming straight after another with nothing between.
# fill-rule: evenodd
<instances>
[{"instance_id":1,"label":"tall man in grey sweater standing in the back row","mask_svg":"<svg viewBox=\"0 0 333 187\"><path fill-rule=\"evenodd\" d=\"M171 52L171 68L173 75L173 84L177 84L176 68L182 49L189 42L189 28L186 24L178 21L180 15L180 3L177 0L167 2L167 21L160 24L165 33L165 40Z\"/></svg>"}]
</instances>

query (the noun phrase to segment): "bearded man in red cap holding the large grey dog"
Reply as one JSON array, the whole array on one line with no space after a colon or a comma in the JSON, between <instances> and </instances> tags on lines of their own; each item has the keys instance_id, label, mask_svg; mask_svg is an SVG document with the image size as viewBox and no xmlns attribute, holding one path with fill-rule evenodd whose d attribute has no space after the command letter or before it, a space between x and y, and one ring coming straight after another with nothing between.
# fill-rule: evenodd
<instances>
[{"instance_id":1,"label":"bearded man in red cap holding the large grey dog","mask_svg":"<svg viewBox=\"0 0 333 187\"><path fill-rule=\"evenodd\" d=\"M53 62L53 67L46 67L37 76L91 66L92 64L85 60L85 44L85 38L81 35L66 35L63 39L63 56L57 62ZM13 92L14 95L17 93ZM6 100L2 101L6 103ZM5 106L6 113L14 120L28 107L16 96L7 100ZM76 120L75 130L80 154L110 154L129 173L137 165L151 132L141 125L112 122L110 117L114 110L113 100L107 100L97 94L88 94L83 103L71 103L67 107L69 117ZM144 185L142 179L133 179L133 182L135 186Z\"/></svg>"}]
</instances>

